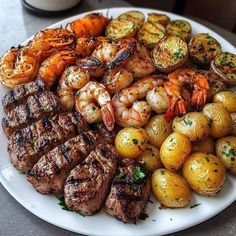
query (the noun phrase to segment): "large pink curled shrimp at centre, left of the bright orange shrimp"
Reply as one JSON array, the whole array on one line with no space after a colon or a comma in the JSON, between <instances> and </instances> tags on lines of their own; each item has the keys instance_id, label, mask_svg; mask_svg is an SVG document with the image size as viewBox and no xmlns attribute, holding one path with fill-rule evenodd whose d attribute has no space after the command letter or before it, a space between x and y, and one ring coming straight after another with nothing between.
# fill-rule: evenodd
<instances>
[{"instance_id":1,"label":"large pink curled shrimp at centre, left of the bright orange shrimp","mask_svg":"<svg viewBox=\"0 0 236 236\"><path fill-rule=\"evenodd\" d=\"M163 80L152 76L140 79L129 88L122 89L115 94L112 103L115 111L115 119L122 127L145 125L151 115L151 107L146 101L137 101L145 98L148 91L163 84Z\"/></svg>"}]
</instances>

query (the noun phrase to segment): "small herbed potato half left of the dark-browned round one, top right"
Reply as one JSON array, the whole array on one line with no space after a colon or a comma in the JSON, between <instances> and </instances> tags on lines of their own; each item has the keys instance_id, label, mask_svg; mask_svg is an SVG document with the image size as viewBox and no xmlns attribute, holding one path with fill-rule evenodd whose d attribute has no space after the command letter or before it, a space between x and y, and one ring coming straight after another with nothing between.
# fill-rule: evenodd
<instances>
[{"instance_id":1,"label":"small herbed potato half left of the dark-browned round one, top right","mask_svg":"<svg viewBox=\"0 0 236 236\"><path fill-rule=\"evenodd\" d=\"M172 20L166 27L168 35L175 35L188 42L191 38L191 25L185 20Z\"/></svg>"}]
</instances>

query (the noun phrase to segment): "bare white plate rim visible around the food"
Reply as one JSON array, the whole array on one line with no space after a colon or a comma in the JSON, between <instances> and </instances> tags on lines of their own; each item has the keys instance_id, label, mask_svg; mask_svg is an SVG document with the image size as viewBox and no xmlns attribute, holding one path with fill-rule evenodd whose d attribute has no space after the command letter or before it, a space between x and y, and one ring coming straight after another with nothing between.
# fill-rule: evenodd
<instances>
[{"instance_id":1,"label":"bare white plate rim visible around the food","mask_svg":"<svg viewBox=\"0 0 236 236\"><path fill-rule=\"evenodd\" d=\"M140 9L147 14L155 12L153 9ZM121 13L130 10L129 8L111 8L97 10L95 12L103 13L109 17L117 17ZM167 14L171 19L186 19L193 28L193 34L209 33L215 37L222 45L223 51L235 53L235 48L221 36L190 19L184 18L168 12L156 11ZM70 17L60 21L51 27L65 26L67 23L84 16L87 13ZM28 41L28 40L27 40ZM6 89L0 87L0 98L5 94ZM0 118L4 116L2 106L0 108ZM82 217L76 213L61 210L58 200L54 196L44 196L37 193L33 187L26 181L24 175L20 174L10 163L7 153L7 139L0 129L1 150L0 150L0 181L7 191L26 209L45 221L57 225L61 228L78 233L89 235L113 235L113 236L145 236L145 235L163 235L189 228L199 224L219 212L223 211L236 200L236 179L228 176L222 191L216 197L202 197L193 194L192 202L189 206L201 203L198 207L190 209L166 209L159 210L159 203L153 200L153 204L148 203L147 213L149 218L140 221L137 225L123 224L118 220L108 216L104 211L90 216Z\"/></svg>"}]
</instances>

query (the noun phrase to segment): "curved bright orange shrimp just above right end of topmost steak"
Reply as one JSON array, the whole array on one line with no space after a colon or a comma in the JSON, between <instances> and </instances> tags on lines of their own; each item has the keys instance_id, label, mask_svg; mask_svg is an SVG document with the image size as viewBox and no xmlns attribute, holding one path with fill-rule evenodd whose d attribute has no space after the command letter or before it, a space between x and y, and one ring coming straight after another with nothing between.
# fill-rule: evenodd
<instances>
[{"instance_id":1,"label":"curved bright orange shrimp just above right end of topmost steak","mask_svg":"<svg viewBox=\"0 0 236 236\"><path fill-rule=\"evenodd\" d=\"M78 58L79 55L72 50L59 51L42 62L38 77L43 78L45 83L51 87L65 68L73 64Z\"/></svg>"}]
</instances>

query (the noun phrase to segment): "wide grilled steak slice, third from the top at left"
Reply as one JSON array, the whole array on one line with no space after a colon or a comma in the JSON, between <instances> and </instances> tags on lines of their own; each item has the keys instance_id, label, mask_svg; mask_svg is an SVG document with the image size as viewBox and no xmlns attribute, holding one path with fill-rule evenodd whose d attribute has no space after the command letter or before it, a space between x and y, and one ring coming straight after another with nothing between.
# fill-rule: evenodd
<instances>
[{"instance_id":1,"label":"wide grilled steak slice, third from the top at left","mask_svg":"<svg viewBox=\"0 0 236 236\"><path fill-rule=\"evenodd\" d=\"M31 169L42 155L75 136L76 124L73 113L61 113L14 132L8 143L12 163L21 171Z\"/></svg>"}]
</instances>

